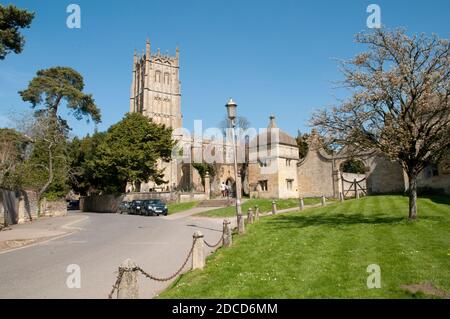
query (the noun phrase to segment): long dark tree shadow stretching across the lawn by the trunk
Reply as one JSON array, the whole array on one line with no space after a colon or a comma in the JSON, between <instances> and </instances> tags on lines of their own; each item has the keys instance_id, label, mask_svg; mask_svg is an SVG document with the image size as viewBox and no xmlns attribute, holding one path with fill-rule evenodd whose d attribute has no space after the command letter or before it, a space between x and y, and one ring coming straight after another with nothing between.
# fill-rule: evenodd
<instances>
[{"instance_id":1,"label":"long dark tree shadow stretching across the lawn by the trunk","mask_svg":"<svg viewBox=\"0 0 450 319\"><path fill-rule=\"evenodd\" d=\"M439 216L422 216L420 220L441 221ZM349 225L388 225L410 223L405 217L388 215L363 215L363 214L318 214L318 215L283 215L268 221L270 226L276 228L304 228L311 226L349 226ZM411 222L412 223L412 222Z\"/></svg>"}]
</instances>

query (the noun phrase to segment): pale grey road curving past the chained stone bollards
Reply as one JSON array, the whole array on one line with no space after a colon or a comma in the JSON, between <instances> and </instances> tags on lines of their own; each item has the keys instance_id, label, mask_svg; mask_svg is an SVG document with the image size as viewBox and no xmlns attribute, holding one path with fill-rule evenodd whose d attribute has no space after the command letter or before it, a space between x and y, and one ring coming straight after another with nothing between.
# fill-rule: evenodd
<instances>
[{"instance_id":1,"label":"pale grey road curving past the chained stone bollards","mask_svg":"<svg viewBox=\"0 0 450 319\"><path fill-rule=\"evenodd\" d=\"M217 242L222 231L221 220L192 216L74 214L87 217L72 223L72 231L79 228L74 233L0 253L0 298L106 298L123 260L165 277L183 263L194 231L209 242ZM67 287L71 264L80 266L80 288ZM140 276L140 297L152 298L168 285Z\"/></svg>"}]
</instances>

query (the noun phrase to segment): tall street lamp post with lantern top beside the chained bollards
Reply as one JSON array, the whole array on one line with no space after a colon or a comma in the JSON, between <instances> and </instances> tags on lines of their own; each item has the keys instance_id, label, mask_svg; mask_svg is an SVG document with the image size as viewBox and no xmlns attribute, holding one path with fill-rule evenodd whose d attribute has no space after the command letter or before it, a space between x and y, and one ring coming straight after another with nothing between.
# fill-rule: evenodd
<instances>
[{"instance_id":1,"label":"tall street lamp post with lantern top beside the chained bollards","mask_svg":"<svg viewBox=\"0 0 450 319\"><path fill-rule=\"evenodd\" d=\"M236 108L237 104L230 98L228 103L225 105L227 108L228 119L230 120L231 126L231 134L233 139L233 154L234 154L234 175L236 181L236 218L238 225L238 232L240 234L245 232L244 228L244 219L242 216L241 209L241 180L240 174L238 173L238 165L237 165L237 141L236 141Z\"/></svg>"}]
</instances>

